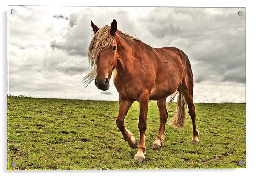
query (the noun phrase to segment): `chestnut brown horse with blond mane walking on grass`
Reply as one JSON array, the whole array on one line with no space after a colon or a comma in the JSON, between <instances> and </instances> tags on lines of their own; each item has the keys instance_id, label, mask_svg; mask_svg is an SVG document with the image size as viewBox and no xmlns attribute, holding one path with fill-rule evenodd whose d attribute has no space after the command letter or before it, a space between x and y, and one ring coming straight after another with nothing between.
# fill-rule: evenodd
<instances>
[{"instance_id":1,"label":"chestnut brown horse with blond mane walking on grass","mask_svg":"<svg viewBox=\"0 0 256 176\"><path fill-rule=\"evenodd\" d=\"M163 145L165 124L168 113L166 98L171 95L169 104L177 95L176 114L170 123L183 129L186 120L187 104L193 124L192 143L199 142L196 129L196 113L193 104L193 74L188 56L174 47L152 48L137 38L117 30L114 19L111 26L98 28L91 21L94 31L88 48L91 73L85 76L85 86L95 79L95 85L108 90L113 73L114 84L119 92L119 114L117 127L131 148L137 148L137 140L125 129L124 118L134 101L139 102L139 149L135 160L143 161L146 154L145 131L147 129L148 101L157 100L160 112L160 128L151 148Z\"/></svg>"}]
</instances>

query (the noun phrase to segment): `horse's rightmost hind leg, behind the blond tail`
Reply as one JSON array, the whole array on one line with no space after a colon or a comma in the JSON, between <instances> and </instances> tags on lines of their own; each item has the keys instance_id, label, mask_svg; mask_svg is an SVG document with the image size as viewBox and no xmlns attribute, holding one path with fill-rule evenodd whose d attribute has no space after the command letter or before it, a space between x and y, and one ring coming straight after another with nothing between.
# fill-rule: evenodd
<instances>
[{"instance_id":1,"label":"horse's rightmost hind leg, behind the blond tail","mask_svg":"<svg viewBox=\"0 0 256 176\"><path fill-rule=\"evenodd\" d=\"M182 95L185 97L185 100L188 104L188 114L191 117L192 120L192 126L193 126L193 137L192 137L192 144L198 144L199 140L199 131L196 129L196 109L194 106L193 101L193 84L190 87L185 87L184 84L179 87L179 92L182 93Z\"/></svg>"}]
</instances>

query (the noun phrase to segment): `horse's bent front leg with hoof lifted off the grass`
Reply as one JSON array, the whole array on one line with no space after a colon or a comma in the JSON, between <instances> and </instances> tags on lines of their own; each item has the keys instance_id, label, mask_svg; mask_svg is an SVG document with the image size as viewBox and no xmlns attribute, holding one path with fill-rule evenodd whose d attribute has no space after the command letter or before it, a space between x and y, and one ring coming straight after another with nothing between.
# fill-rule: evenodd
<instances>
[{"instance_id":1,"label":"horse's bent front leg with hoof lifted off the grass","mask_svg":"<svg viewBox=\"0 0 256 176\"><path fill-rule=\"evenodd\" d=\"M117 116L116 123L117 123L117 127L122 132L122 135L123 135L125 141L128 142L128 145L131 148L137 148L136 138L131 134L130 131L125 129L125 123L124 123L125 115L127 114L132 103L133 103L133 101L124 99L120 95L120 97L119 97L119 113Z\"/></svg>"}]
</instances>

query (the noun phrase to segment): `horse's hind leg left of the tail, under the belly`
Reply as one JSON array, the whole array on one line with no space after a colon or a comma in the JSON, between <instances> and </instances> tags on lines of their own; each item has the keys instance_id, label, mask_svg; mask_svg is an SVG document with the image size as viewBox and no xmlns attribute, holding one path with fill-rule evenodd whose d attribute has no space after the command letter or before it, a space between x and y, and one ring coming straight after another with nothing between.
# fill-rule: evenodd
<instances>
[{"instance_id":1,"label":"horse's hind leg left of the tail, under the belly","mask_svg":"<svg viewBox=\"0 0 256 176\"><path fill-rule=\"evenodd\" d=\"M164 142L164 132L165 132L165 124L168 118L168 113L166 109L166 97L157 101L157 106L159 108L160 114L160 127L156 137L156 140L151 145L151 149L159 149L162 147Z\"/></svg>"}]
</instances>

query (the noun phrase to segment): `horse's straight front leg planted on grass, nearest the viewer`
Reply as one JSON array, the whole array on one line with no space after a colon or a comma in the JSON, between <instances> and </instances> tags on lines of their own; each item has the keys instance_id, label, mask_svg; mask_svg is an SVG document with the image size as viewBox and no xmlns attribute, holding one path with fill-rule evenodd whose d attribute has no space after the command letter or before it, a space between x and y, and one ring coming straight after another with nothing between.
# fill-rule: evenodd
<instances>
[{"instance_id":1,"label":"horse's straight front leg planted on grass, nearest the viewer","mask_svg":"<svg viewBox=\"0 0 256 176\"><path fill-rule=\"evenodd\" d=\"M139 150L134 156L134 159L138 161L143 161L145 159L145 154L146 154L145 131L147 129L148 101L149 101L149 94L144 93L139 97L138 127L140 132L140 140L139 140Z\"/></svg>"}]
</instances>

